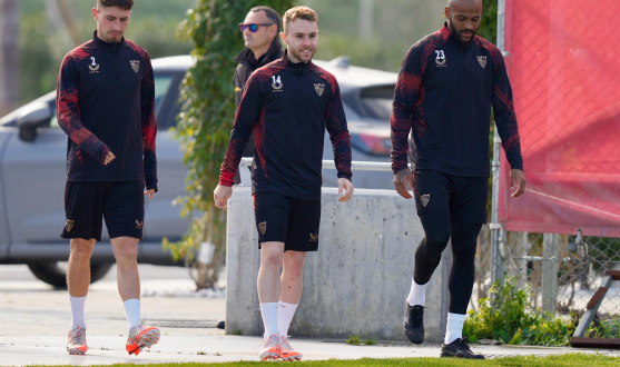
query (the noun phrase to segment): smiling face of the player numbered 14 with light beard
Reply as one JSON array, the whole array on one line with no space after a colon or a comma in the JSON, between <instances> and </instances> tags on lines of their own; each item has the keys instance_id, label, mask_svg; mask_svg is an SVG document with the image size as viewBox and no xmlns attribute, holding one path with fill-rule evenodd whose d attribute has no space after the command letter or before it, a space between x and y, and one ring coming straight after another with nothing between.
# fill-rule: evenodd
<instances>
[{"instance_id":1,"label":"smiling face of the player numbered 14 with light beard","mask_svg":"<svg viewBox=\"0 0 620 367\"><path fill-rule=\"evenodd\" d=\"M318 48L318 29L314 21L295 19L281 37L288 47L288 58L293 62L308 62Z\"/></svg>"}]
</instances>

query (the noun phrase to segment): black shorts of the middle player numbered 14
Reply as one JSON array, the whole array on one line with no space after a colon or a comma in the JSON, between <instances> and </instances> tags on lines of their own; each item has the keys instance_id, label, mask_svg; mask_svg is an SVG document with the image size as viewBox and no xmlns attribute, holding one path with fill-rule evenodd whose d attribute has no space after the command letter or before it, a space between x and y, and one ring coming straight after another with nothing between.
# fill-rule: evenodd
<instances>
[{"instance_id":1,"label":"black shorts of the middle player numbered 14","mask_svg":"<svg viewBox=\"0 0 620 367\"><path fill-rule=\"evenodd\" d=\"M258 248L263 242L284 242L284 251L316 251L321 201L277 192L254 194Z\"/></svg>"}]
</instances>

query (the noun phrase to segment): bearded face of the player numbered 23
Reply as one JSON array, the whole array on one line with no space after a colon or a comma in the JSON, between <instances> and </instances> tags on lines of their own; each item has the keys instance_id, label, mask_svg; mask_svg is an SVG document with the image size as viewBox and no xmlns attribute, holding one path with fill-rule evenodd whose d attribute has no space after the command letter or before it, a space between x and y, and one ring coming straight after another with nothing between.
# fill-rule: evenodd
<instances>
[{"instance_id":1,"label":"bearded face of the player numbered 23","mask_svg":"<svg viewBox=\"0 0 620 367\"><path fill-rule=\"evenodd\" d=\"M445 7L447 28L461 44L469 44L480 29L482 1L451 1Z\"/></svg>"}]
</instances>

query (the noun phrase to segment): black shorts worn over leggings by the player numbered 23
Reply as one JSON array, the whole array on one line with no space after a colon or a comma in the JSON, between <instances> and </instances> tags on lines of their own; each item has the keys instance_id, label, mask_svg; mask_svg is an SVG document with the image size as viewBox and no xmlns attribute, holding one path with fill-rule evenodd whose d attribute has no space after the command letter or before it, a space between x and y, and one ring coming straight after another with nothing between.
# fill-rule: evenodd
<instances>
[{"instance_id":1,"label":"black shorts worn over leggings by the player numbered 23","mask_svg":"<svg viewBox=\"0 0 620 367\"><path fill-rule=\"evenodd\" d=\"M486 222L488 177L461 177L431 169L413 171L417 215L447 211L452 225Z\"/></svg>"}]
</instances>

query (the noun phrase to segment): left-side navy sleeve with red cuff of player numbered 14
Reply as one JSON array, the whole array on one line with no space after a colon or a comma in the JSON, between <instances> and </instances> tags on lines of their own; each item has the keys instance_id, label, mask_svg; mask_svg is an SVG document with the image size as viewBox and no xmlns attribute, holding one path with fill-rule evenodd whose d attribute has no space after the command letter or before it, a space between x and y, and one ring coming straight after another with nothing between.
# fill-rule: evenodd
<instances>
[{"instance_id":1,"label":"left-side navy sleeve with red cuff of player numbered 14","mask_svg":"<svg viewBox=\"0 0 620 367\"><path fill-rule=\"evenodd\" d=\"M230 139L228 140L228 147L226 149L226 156L222 163L219 185L233 186L244 148L252 135L252 130L256 125L262 108L263 98L260 82L257 80L256 73L254 73L247 80L242 102L237 109L235 123L233 126L233 131L230 131Z\"/></svg>"}]
</instances>

